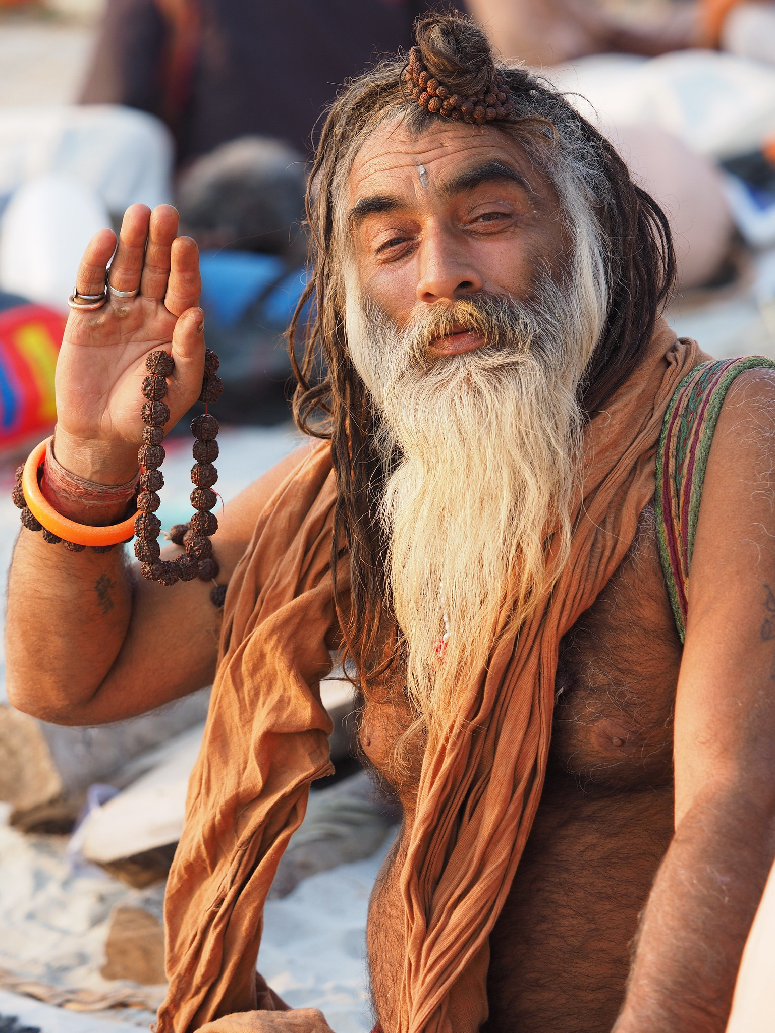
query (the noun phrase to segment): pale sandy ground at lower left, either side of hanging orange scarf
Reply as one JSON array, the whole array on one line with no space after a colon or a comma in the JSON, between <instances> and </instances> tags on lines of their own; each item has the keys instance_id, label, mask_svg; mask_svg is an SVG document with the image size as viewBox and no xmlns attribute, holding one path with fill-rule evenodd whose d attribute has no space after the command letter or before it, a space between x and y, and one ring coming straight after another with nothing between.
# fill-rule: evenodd
<instances>
[{"instance_id":1,"label":"pale sandy ground at lower left, either side of hanging orange scarf","mask_svg":"<svg viewBox=\"0 0 775 1033\"><path fill-rule=\"evenodd\" d=\"M56 987L140 992L148 1008L93 1012L83 1033L116 1033L116 1024L148 1028L163 988L106 980L99 968L113 908L140 904L158 911L163 887L130 889L98 868L73 865L66 844L64 837L23 836L0 825L0 968ZM364 932L371 886L389 848L315 875L267 904L260 971L291 1006L322 1009L335 1033L367 1033L372 1026ZM0 992L0 1014L7 1013L6 998L13 1014L54 1033L63 1009L37 1012L34 1006L35 1019L29 1002ZM63 1033L70 1029L78 1027L65 1026Z\"/></svg>"}]
</instances>

